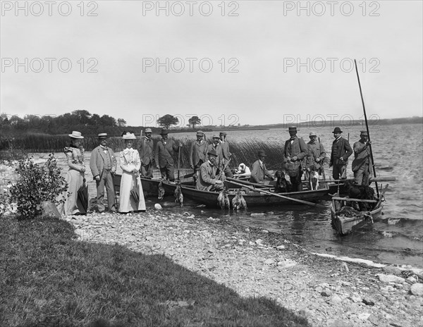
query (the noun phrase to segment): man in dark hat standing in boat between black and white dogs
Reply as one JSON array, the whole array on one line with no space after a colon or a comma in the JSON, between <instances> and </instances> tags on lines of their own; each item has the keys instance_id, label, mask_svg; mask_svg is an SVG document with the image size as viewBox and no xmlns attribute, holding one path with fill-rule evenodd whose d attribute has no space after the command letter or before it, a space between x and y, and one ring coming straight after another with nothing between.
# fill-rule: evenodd
<instances>
[{"instance_id":1,"label":"man in dark hat standing in boat between black and white dogs","mask_svg":"<svg viewBox=\"0 0 423 327\"><path fill-rule=\"evenodd\" d=\"M290 183L293 185L293 191L302 191L302 168L303 159L307 156L307 145L302 138L297 137L297 128L290 126L288 128L290 139L286 140L283 149L283 164L289 175Z\"/></svg>"}]
</instances>

